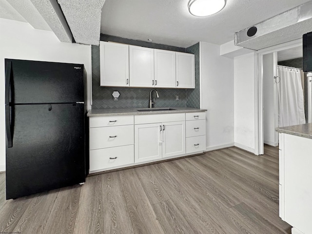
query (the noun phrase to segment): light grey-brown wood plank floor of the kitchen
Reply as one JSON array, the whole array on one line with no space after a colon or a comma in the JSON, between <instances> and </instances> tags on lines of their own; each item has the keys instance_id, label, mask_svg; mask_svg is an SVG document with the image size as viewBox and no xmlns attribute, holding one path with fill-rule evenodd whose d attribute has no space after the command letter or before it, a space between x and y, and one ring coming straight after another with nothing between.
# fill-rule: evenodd
<instances>
[{"instance_id":1,"label":"light grey-brown wood plank floor of the kitchen","mask_svg":"<svg viewBox=\"0 0 312 234\"><path fill-rule=\"evenodd\" d=\"M7 201L2 173L0 233L15 232L291 234L278 216L278 148L254 156L232 147Z\"/></svg>"}]
</instances>

